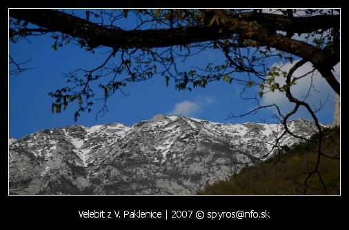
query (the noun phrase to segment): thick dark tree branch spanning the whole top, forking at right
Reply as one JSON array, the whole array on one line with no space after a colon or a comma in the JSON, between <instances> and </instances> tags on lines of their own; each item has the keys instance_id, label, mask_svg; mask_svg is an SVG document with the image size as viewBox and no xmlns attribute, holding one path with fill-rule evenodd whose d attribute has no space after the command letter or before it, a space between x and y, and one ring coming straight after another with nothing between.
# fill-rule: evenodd
<instances>
[{"instance_id":1,"label":"thick dark tree branch spanning the whole top, forking at right","mask_svg":"<svg viewBox=\"0 0 349 230\"><path fill-rule=\"evenodd\" d=\"M320 68L319 71L323 77L326 78L326 81L330 83L337 94L340 94L339 83L334 78L333 74L330 74L332 67L339 62L338 52L332 52L326 49L321 50L303 41L290 39L287 36L277 34L275 31L275 27L278 28L278 26L290 30L290 25L295 23L295 20L303 20L303 23L305 23L305 20L309 20L308 23L312 21L310 25L318 25L320 21L323 22L323 17L295 19L275 16L279 24L275 23L272 27L268 27L266 26L266 22L259 23L257 21L243 20L243 17L240 19L239 17L227 14L224 10L208 10L208 12L219 15L224 23L219 26L200 25L186 28L126 31L105 28L101 25L57 10L10 10L10 17L29 21L30 23L39 25L42 28L47 28L48 30L80 37L86 40L91 48L99 45L123 49L159 48L172 45L186 45L202 41L215 41L218 39L230 38L232 34L238 34L242 39L257 41L257 43L261 45L270 46L310 61L315 67ZM250 18L251 17L253 18L255 16L250 16ZM268 14L263 17L264 21L268 21L270 20L269 18L272 18L272 16ZM336 21L337 17L329 17L328 19L328 21ZM295 24L301 27L299 22ZM330 24L332 26L332 22ZM324 28L328 27L326 22L323 22L323 25L325 25ZM303 25L303 27L305 26L306 25ZM312 29L314 28L312 27Z\"/></svg>"}]
</instances>

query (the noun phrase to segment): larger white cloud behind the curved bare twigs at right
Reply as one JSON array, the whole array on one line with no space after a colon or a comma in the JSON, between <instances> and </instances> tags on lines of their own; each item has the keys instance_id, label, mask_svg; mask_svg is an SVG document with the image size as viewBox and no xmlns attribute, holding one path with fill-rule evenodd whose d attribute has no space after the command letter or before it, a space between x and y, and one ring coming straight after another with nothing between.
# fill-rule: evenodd
<instances>
[{"instance_id":1,"label":"larger white cloud behind the curved bare twigs at right","mask_svg":"<svg viewBox=\"0 0 349 230\"><path fill-rule=\"evenodd\" d=\"M275 63L272 66L275 66L275 65L279 65L279 64ZM281 67L281 70L288 72L288 70L290 70L290 68L293 65L295 65L295 62L293 64L287 63L286 65ZM299 69L295 71L293 76L295 77L302 76L303 74L310 72L312 69L313 69L312 64L308 62L303 66L299 67ZM339 81L340 64L338 63L334 69L335 69L334 71L335 77ZM321 76L321 74L319 74L319 72L317 71L314 72L312 77L310 76L311 74L302 79L299 79L296 82L296 85L293 85L291 87L292 95L295 96L295 98L298 98L299 100L303 101L304 96L308 93L309 87L312 83L315 90L317 90L318 92L315 91L313 88L310 89L310 96L306 99L307 103L309 103L310 105L319 106L319 101L323 103L324 101L326 101L326 98L328 97L328 95L330 95L330 97L328 98L329 102L334 100L335 92L332 90L330 85L328 85L326 79L324 79ZM279 76L275 78L275 80L277 83L279 83L280 86L285 85L286 83L285 78L283 76ZM279 107L281 108L281 112L283 113L289 112L290 109L292 109L295 105L294 103L290 103L288 101L288 98L286 98L285 94L277 90L275 92L268 92L264 94L261 100L262 105L270 105L272 103L279 105Z\"/></svg>"}]
</instances>

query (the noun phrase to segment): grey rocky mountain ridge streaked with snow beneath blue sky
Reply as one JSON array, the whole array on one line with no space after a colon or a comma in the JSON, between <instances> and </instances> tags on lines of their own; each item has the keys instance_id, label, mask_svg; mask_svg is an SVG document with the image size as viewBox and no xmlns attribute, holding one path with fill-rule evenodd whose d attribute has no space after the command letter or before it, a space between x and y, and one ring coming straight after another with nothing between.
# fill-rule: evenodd
<instances>
[{"instance_id":1,"label":"grey rocky mountain ridge streaked with snow beneath blue sky","mask_svg":"<svg viewBox=\"0 0 349 230\"><path fill-rule=\"evenodd\" d=\"M299 119L288 128L306 137L315 125ZM132 127L45 129L9 140L10 194L195 194L275 154L283 130L163 115ZM286 135L281 145L297 141Z\"/></svg>"}]
</instances>

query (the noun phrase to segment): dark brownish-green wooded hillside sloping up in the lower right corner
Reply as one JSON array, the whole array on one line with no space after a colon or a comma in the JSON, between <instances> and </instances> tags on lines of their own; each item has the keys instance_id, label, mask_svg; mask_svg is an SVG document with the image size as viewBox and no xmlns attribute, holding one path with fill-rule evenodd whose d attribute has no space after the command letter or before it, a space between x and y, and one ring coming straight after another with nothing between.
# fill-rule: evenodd
<instances>
[{"instance_id":1,"label":"dark brownish-green wooded hillside sloping up in the lower right corner","mask_svg":"<svg viewBox=\"0 0 349 230\"><path fill-rule=\"evenodd\" d=\"M340 193L339 127L325 129L319 172L328 194ZM316 140L312 136L311 140ZM304 194L306 178L317 161L317 143L298 143L263 163L243 168L229 180L209 185L198 194ZM305 194L324 194L317 174L307 181Z\"/></svg>"}]
</instances>

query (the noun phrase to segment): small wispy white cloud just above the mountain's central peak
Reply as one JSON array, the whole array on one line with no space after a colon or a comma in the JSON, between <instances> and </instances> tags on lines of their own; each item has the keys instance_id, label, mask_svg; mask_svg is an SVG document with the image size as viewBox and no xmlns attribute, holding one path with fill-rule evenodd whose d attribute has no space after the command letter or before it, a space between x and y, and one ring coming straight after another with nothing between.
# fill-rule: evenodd
<instances>
[{"instance_id":1,"label":"small wispy white cloud just above the mountain's central peak","mask_svg":"<svg viewBox=\"0 0 349 230\"><path fill-rule=\"evenodd\" d=\"M168 112L169 115L195 116L202 112L203 107L216 103L214 96L197 97L196 101L184 100L175 104L175 108Z\"/></svg>"}]
</instances>

